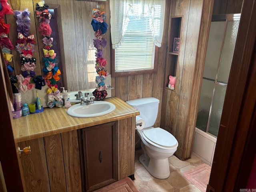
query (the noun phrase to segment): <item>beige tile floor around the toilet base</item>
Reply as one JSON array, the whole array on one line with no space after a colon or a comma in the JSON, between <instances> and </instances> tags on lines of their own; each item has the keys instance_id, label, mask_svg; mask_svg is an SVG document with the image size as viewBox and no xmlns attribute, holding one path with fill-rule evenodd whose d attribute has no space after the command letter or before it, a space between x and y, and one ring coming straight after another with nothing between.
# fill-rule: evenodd
<instances>
[{"instance_id":1,"label":"beige tile floor around the toilet base","mask_svg":"<svg viewBox=\"0 0 256 192\"><path fill-rule=\"evenodd\" d=\"M170 157L170 176L166 179L157 179L151 176L139 162L141 154L142 150L135 151L134 184L140 192L201 192L182 175L183 172L204 163L193 154L186 161L181 161L176 156Z\"/></svg>"}]
</instances>

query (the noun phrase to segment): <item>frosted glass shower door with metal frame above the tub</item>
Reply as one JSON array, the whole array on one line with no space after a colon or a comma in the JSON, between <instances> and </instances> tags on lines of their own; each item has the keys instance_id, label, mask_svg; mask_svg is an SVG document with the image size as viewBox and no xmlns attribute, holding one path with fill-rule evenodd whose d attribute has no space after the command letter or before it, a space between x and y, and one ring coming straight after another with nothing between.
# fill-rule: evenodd
<instances>
[{"instance_id":1,"label":"frosted glass shower door with metal frame above the tub","mask_svg":"<svg viewBox=\"0 0 256 192\"><path fill-rule=\"evenodd\" d=\"M220 126L239 18L211 23L196 127L215 137Z\"/></svg>"}]
</instances>

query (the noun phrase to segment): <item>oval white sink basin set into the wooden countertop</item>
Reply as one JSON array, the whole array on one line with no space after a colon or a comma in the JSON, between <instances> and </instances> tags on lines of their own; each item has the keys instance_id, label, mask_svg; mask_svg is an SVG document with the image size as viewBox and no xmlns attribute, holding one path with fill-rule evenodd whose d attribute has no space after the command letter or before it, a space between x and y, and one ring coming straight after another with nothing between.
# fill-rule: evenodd
<instances>
[{"instance_id":1,"label":"oval white sink basin set into the wooden countertop","mask_svg":"<svg viewBox=\"0 0 256 192\"><path fill-rule=\"evenodd\" d=\"M106 101L94 101L93 104L80 105L75 104L68 108L67 113L73 117L98 117L114 111L116 106Z\"/></svg>"}]
</instances>

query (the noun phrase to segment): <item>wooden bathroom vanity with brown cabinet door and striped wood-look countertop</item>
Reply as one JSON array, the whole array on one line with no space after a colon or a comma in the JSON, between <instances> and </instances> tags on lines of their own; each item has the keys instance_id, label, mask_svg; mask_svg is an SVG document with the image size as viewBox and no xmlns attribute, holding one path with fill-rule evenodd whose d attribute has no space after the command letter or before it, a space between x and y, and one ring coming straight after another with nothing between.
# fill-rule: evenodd
<instances>
[{"instance_id":1,"label":"wooden bathroom vanity with brown cabinet door and striped wood-look countertop","mask_svg":"<svg viewBox=\"0 0 256 192\"><path fill-rule=\"evenodd\" d=\"M93 191L134 176L135 116L139 111L119 98L106 98L116 109L94 118L76 118L67 109L15 119L27 191Z\"/></svg>"}]
</instances>

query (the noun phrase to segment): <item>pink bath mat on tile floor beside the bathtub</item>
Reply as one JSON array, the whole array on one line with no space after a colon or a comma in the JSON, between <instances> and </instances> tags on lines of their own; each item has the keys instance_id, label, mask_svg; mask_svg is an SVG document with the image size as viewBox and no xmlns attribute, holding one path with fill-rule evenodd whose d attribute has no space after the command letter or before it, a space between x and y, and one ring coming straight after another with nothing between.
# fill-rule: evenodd
<instances>
[{"instance_id":1,"label":"pink bath mat on tile floor beside the bathtub","mask_svg":"<svg viewBox=\"0 0 256 192\"><path fill-rule=\"evenodd\" d=\"M183 176L192 182L202 192L206 192L209 183L211 167L208 164L201 164L183 173Z\"/></svg>"}]
</instances>

